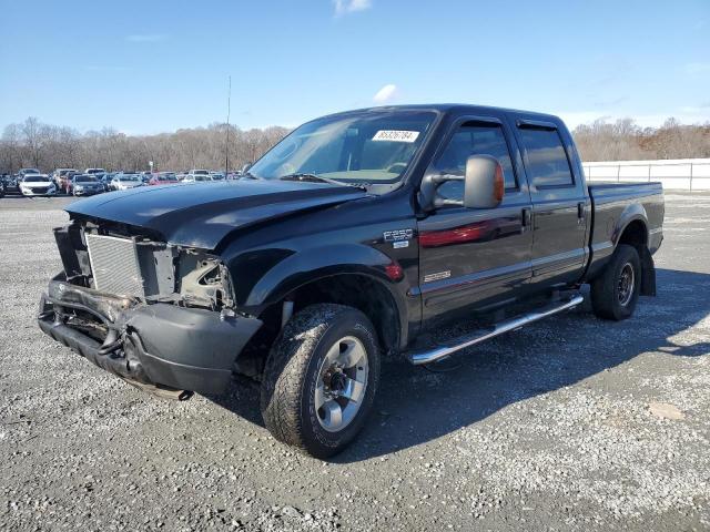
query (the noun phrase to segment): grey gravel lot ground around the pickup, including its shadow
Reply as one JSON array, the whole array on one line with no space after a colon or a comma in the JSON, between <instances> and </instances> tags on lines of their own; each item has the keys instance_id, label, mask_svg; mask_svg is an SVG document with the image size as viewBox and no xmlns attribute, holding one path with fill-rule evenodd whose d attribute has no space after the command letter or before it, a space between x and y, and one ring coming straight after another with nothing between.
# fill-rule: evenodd
<instances>
[{"instance_id":1,"label":"grey gravel lot ground around the pickup, including its shadow","mask_svg":"<svg viewBox=\"0 0 710 532\"><path fill-rule=\"evenodd\" d=\"M710 195L667 202L632 319L389 362L321 462L271 438L248 383L160 400L42 335L68 200L0 200L0 530L710 530Z\"/></svg>"}]
</instances>

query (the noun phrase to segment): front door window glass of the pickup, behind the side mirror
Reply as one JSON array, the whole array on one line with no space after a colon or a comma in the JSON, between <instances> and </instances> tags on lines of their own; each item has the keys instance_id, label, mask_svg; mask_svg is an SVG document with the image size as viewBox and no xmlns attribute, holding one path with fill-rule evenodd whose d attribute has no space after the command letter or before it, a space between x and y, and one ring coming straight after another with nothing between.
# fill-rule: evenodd
<instances>
[{"instance_id":1,"label":"front door window glass of the pickup, behind the side mirror","mask_svg":"<svg viewBox=\"0 0 710 532\"><path fill-rule=\"evenodd\" d=\"M466 160L471 155L491 155L503 166L506 191L518 187L503 127L495 124L463 124L448 141L433 170L439 174L464 176ZM464 182L447 181L437 193L447 200L464 200Z\"/></svg>"}]
</instances>

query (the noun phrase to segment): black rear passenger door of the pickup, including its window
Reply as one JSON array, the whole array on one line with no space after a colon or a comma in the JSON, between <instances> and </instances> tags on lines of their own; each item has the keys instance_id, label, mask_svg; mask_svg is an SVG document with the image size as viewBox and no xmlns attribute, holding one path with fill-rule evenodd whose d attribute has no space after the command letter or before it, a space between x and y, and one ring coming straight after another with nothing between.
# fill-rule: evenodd
<instances>
[{"instance_id":1,"label":"black rear passenger door of the pickup, including its window","mask_svg":"<svg viewBox=\"0 0 710 532\"><path fill-rule=\"evenodd\" d=\"M569 134L561 124L527 116L515 127L532 201L531 284L574 283L587 259L589 201L572 170Z\"/></svg>"}]
</instances>

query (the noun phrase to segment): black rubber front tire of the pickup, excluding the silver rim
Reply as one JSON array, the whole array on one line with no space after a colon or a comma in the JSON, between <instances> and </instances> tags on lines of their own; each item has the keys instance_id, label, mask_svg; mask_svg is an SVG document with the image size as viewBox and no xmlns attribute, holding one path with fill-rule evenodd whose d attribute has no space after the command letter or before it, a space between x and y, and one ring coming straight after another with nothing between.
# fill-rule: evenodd
<instances>
[{"instance_id":1,"label":"black rubber front tire of the pickup, excluding the silver rim","mask_svg":"<svg viewBox=\"0 0 710 532\"><path fill-rule=\"evenodd\" d=\"M327 350L356 337L369 365L364 398L342 430L326 431L315 408L315 387ZM261 387L261 411L277 440L316 458L341 452L357 436L372 410L379 383L379 346L375 329L359 310L333 304L312 305L295 314L274 341Z\"/></svg>"}]
</instances>

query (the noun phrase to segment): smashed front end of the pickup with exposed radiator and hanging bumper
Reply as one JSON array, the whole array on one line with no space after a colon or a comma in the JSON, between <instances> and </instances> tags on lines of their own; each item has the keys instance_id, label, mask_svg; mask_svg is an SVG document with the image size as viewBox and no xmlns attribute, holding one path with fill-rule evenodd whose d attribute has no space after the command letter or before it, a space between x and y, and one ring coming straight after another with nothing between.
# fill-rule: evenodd
<instances>
[{"instance_id":1,"label":"smashed front end of the pickup with exposed radiator and hanging bumper","mask_svg":"<svg viewBox=\"0 0 710 532\"><path fill-rule=\"evenodd\" d=\"M224 390L262 324L236 311L217 256L109 223L54 236L64 272L40 301L44 332L149 391Z\"/></svg>"}]
</instances>

